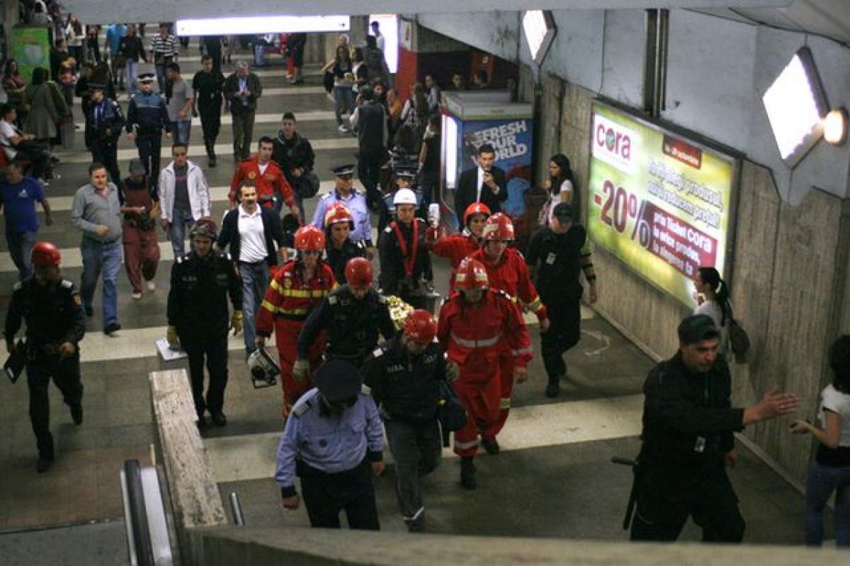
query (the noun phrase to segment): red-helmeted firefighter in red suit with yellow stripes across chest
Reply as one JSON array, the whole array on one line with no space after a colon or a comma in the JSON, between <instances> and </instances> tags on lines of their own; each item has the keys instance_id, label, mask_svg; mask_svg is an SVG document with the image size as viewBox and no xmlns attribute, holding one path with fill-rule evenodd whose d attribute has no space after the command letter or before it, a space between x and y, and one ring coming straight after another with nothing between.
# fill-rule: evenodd
<instances>
[{"instance_id":1,"label":"red-helmeted firefighter in red suit with yellow stripes across chest","mask_svg":"<svg viewBox=\"0 0 850 566\"><path fill-rule=\"evenodd\" d=\"M280 355L280 385L283 388L283 417L286 418L298 397L308 391L308 380L298 381L292 376L292 366L298 357L298 333L309 311L337 286L333 271L320 260L325 249L325 234L313 226L298 228L295 233L297 259L287 261L275 275L266 291L263 305L257 314L257 347L263 347L272 330ZM325 350L324 333L309 352L313 369L321 364Z\"/></svg>"}]
</instances>

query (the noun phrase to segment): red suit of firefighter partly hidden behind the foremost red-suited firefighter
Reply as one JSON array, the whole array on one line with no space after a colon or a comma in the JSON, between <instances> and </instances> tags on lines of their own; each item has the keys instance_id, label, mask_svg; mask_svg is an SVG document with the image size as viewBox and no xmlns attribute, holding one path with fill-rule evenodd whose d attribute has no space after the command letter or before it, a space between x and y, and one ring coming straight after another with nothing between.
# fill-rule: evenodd
<instances>
[{"instance_id":1,"label":"red suit of firefighter partly hidden behind the foremost red-suited firefighter","mask_svg":"<svg viewBox=\"0 0 850 566\"><path fill-rule=\"evenodd\" d=\"M528 306L530 311L537 315L537 320L542 321L547 317L546 305L540 300L534 283L531 283L529 268L525 265L525 258L516 249L506 248L501 254L499 261L490 260L490 256L484 248L470 254L472 257L484 264L487 270L487 278L490 281L490 289L499 289L511 296L513 300L521 300ZM511 411L511 391L513 391L513 356L511 348L507 343L501 347L499 365L501 366L501 400L499 401L499 419L487 431L487 436L496 438L507 421L507 414Z\"/></svg>"}]
</instances>

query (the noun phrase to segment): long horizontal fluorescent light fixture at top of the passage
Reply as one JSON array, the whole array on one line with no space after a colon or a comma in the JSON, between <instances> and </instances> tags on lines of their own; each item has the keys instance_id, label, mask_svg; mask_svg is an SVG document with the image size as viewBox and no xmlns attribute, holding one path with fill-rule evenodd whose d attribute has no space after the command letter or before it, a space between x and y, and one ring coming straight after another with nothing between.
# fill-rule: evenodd
<instances>
[{"instance_id":1,"label":"long horizontal fluorescent light fixture at top of the passage","mask_svg":"<svg viewBox=\"0 0 850 566\"><path fill-rule=\"evenodd\" d=\"M348 31L350 16L244 16L177 20L178 36L239 36L260 33L297 33L309 31Z\"/></svg>"}]
</instances>

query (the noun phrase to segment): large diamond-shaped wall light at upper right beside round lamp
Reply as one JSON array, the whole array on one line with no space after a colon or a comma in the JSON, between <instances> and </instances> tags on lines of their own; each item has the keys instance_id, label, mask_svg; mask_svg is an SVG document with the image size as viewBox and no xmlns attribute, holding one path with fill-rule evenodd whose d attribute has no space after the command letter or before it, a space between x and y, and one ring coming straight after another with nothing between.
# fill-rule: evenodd
<instances>
[{"instance_id":1,"label":"large diamond-shaped wall light at upper right beside round lamp","mask_svg":"<svg viewBox=\"0 0 850 566\"><path fill-rule=\"evenodd\" d=\"M812 52L801 48L762 96L785 165L794 167L823 135L829 109Z\"/></svg>"}]
</instances>

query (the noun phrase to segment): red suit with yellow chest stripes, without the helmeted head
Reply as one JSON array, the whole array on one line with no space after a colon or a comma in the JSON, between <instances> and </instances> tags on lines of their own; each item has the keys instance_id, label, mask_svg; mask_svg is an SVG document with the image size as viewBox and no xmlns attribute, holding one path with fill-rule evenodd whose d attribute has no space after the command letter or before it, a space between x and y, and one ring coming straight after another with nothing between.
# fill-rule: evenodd
<instances>
[{"instance_id":1,"label":"red suit with yellow chest stripes, without the helmeted head","mask_svg":"<svg viewBox=\"0 0 850 566\"><path fill-rule=\"evenodd\" d=\"M318 305L337 286L333 270L320 262L316 275L309 281L303 280L300 261L287 261L269 284L263 304L256 317L257 335L268 338L275 330L275 342L280 356L280 386L283 388L283 416L292 410L298 397L306 393L313 384L297 382L292 378L292 366L298 358L298 333L309 311ZM309 361L312 370L321 364L325 351L326 336L321 333L310 349Z\"/></svg>"}]
</instances>

